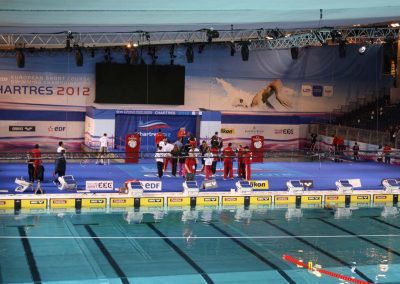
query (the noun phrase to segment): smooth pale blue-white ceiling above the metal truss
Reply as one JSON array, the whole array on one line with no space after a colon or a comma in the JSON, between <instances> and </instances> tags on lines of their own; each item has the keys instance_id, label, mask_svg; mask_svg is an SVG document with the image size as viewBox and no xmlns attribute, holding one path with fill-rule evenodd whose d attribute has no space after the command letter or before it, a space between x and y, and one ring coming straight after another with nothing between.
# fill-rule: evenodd
<instances>
[{"instance_id":1,"label":"smooth pale blue-white ceiling above the metal truss","mask_svg":"<svg viewBox=\"0 0 400 284\"><path fill-rule=\"evenodd\" d=\"M231 25L295 29L399 20L399 0L0 0L2 33L176 31Z\"/></svg>"}]
</instances>

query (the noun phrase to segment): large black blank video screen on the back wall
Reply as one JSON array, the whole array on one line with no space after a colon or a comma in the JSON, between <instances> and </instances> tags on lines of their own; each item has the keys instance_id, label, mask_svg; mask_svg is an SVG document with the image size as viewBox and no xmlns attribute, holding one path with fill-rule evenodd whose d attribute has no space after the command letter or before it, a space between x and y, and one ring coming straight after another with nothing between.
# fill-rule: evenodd
<instances>
[{"instance_id":1,"label":"large black blank video screen on the back wall","mask_svg":"<svg viewBox=\"0 0 400 284\"><path fill-rule=\"evenodd\" d=\"M95 103L185 103L185 66L96 64Z\"/></svg>"}]
</instances>

